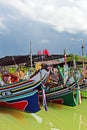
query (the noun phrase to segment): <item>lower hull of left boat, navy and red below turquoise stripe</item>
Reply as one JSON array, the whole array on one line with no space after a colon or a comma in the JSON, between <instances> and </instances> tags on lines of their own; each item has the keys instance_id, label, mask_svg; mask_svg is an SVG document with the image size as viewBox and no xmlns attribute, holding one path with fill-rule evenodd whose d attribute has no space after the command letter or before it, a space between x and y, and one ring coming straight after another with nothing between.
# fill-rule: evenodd
<instances>
[{"instance_id":1,"label":"lower hull of left boat, navy and red below turquoise stripe","mask_svg":"<svg viewBox=\"0 0 87 130\"><path fill-rule=\"evenodd\" d=\"M28 94L9 97L0 101L0 106L14 108L24 112L35 113L40 110L38 91L35 90Z\"/></svg>"}]
</instances>

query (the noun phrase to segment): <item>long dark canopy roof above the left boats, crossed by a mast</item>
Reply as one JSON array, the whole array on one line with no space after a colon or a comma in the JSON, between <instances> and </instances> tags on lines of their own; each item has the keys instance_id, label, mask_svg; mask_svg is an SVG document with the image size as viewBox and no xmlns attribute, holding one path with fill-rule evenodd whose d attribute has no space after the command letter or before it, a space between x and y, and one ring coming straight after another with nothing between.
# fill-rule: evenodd
<instances>
[{"instance_id":1,"label":"long dark canopy roof above the left boats, crossed by a mast","mask_svg":"<svg viewBox=\"0 0 87 130\"><path fill-rule=\"evenodd\" d=\"M63 55L32 55L33 62L46 61L46 60L54 60L64 58ZM17 55L17 56L5 56L0 58L0 66L9 66L9 65L17 65L21 63L29 63L30 64L30 55Z\"/></svg>"}]
</instances>

